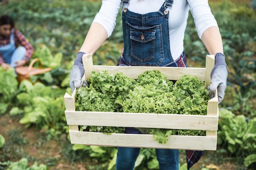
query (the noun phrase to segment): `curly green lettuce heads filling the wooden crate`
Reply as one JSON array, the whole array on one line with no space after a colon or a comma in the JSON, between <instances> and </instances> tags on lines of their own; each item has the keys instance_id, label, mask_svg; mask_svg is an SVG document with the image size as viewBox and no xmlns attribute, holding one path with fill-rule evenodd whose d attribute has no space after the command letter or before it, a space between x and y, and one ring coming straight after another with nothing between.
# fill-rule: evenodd
<instances>
[{"instance_id":1,"label":"curly green lettuce heads filling the wooden crate","mask_svg":"<svg viewBox=\"0 0 256 170\"><path fill-rule=\"evenodd\" d=\"M209 100L204 82L198 77L184 75L175 83L166 79L160 71L145 71L137 80L123 73L108 71L92 72L89 87L76 93L77 111L126 112L206 115ZM140 128L165 144L171 135L205 135L205 130L173 130ZM81 126L80 130L91 132L124 133L124 128L110 126Z\"/></svg>"}]
</instances>

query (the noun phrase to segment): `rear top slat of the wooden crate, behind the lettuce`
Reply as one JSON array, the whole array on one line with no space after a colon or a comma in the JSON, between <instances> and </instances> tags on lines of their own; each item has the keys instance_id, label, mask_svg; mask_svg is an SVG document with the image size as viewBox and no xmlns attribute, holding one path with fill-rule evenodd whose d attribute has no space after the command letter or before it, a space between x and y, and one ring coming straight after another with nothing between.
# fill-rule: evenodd
<instances>
[{"instance_id":1,"label":"rear top slat of the wooden crate, behind the lettuce","mask_svg":"<svg viewBox=\"0 0 256 170\"><path fill-rule=\"evenodd\" d=\"M198 77L200 80L205 80L205 68L192 68L192 67L148 67L148 66L93 66L93 70L100 72L108 70L110 73L122 72L124 75L137 79L138 75L145 71L158 70L167 79L178 80L182 75L192 75Z\"/></svg>"}]
</instances>

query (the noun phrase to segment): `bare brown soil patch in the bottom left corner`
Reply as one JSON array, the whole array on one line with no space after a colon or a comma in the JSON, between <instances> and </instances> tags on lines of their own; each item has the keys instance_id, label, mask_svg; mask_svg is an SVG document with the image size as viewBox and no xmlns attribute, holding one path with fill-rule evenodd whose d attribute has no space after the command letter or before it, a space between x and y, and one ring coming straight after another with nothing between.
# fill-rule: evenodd
<instances>
[{"instance_id":1,"label":"bare brown soil patch in the bottom left corner","mask_svg":"<svg viewBox=\"0 0 256 170\"><path fill-rule=\"evenodd\" d=\"M42 163L49 166L49 170L87 170L86 162L72 165L63 159L61 150L64 143L69 142L66 135L61 136L59 140L47 140L43 137L44 131L38 131L34 127L26 128L19 123L16 116L7 114L0 115L0 134L5 138L7 145L6 149L0 149L0 155L5 154L7 160L1 160L0 157L0 162L15 162L25 157L29 160L29 166L36 161L38 165Z\"/></svg>"}]
</instances>

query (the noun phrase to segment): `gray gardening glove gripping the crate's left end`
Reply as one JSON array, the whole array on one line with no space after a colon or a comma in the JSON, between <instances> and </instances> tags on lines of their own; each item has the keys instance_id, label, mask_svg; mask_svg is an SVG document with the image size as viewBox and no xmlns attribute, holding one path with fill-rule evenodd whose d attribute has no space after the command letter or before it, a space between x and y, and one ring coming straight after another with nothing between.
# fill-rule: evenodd
<instances>
[{"instance_id":1,"label":"gray gardening glove gripping the crate's left end","mask_svg":"<svg viewBox=\"0 0 256 170\"><path fill-rule=\"evenodd\" d=\"M82 62L82 57L84 54L85 53L81 51L77 53L72 70L70 72L70 88L72 92L74 91L75 88L81 87L81 83L82 83L81 79L84 75L84 68L83 68L83 62ZM89 84L86 80L84 80L82 86L83 87L89 86Z\"/></svg>"}]
</instances>

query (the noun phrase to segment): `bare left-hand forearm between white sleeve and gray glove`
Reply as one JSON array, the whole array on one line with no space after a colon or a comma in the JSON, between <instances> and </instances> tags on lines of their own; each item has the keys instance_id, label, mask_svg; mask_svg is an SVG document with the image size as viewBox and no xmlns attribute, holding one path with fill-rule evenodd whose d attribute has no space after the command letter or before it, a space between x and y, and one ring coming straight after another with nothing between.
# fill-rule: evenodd
<instances>
[{"instance_id":1,"label":"bare left-hand forearm between white sleeve and gray glove","mask_svg":"<svg viewBox=\"0 0 256 170\"><path fill-rule=\"evenodd\" d=\"M94 22L90 26L80 51L94 54L101 44L108 38L106 29L101 24Z\"/></svg>"}]
</instances>

